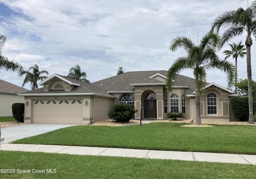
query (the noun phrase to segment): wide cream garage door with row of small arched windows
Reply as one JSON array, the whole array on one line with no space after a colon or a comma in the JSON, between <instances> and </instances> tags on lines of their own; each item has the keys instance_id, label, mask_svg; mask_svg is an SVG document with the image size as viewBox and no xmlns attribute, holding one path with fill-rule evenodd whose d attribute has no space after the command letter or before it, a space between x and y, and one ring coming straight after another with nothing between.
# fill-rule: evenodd
<instances>
[{"instance_id":1,"label":"wide cream garage door with row of small arched windows","mask_svg":"<svg viewBox=\"0 0 256 179\"><path fill-rule=\"evenodd\" d=\"M82 100L34 100L33 123L82 124Z\"/></svg>"}]
</instances>

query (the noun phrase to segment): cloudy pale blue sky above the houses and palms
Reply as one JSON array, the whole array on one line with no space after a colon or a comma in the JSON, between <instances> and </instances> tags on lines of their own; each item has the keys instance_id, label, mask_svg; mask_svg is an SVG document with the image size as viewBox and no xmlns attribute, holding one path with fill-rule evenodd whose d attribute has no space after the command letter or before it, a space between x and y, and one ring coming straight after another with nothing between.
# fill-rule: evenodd
<instances>
[{"instance_id":1,"label":"cloudy pale blue sky above the houses and palms","mask_svg":"<svg viewBox=\"0 0 256 179\"><path fill-rule=\"evenodd\" d=\"M249 5L250 5L249 0ZM25 70L68 75L80 65L95 82L128 71L168 70L185 51L170 52L170 41L179 35L195 43L222 12L247 8L241 0L0 0L0 33L7 41L2 52ZM199 30L199 33L198 33ZM244 44L245 35L229 43ZM252 67L256 41L253 38ZM229 45L218 53L230 49ZM229 59L234 63L234 59ZM182 75L193 77L191 71ZM247 78L246 57L238 59L238 78ZM256 72L252 69L252 78ZM21 86L17 73L0 70L0 79ZM208 71L207 81L226 87L226 76ZM25 88L30 89L30 85Z\"/></svg>"}]
</instances>

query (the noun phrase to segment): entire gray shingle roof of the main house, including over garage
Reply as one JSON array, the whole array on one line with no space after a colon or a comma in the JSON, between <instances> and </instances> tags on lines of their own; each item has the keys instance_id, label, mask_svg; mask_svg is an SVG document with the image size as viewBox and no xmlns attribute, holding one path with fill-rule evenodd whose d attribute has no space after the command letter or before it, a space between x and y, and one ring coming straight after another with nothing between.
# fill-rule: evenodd
<instances>
[{"instance_id":1,"label":"entire gray shingle roof of the main house, including over garage","mask_svg":"<svg viewBox=\"0 0 256 179\"><path fill-rule=\"evenodd\" d=\"M125 91L134 91L134 86L130 84L160 84L162 85L164 82L159 81L152 77L153 75L156 75L157 73L166 76L167 71L132 71L132 72L126 72L122 73L120 75L116 75L114 77L110 77L107 79L103 79L100 81L96 81L94 83L85 83L79 80L72 79L70 77L65 77L62 75L59 75L60 77L72 82L72 83L78 83L80 86L74 87L74 89L70 91L65 90L50 90L48 92L44 92L43 88L31 90L28 92L25 92L24 94L52 94L52 93L96 93L96 94L102 94L106 96L111 96L111 94L107 92L125 92ZM208 85L207 83L206 85ZM177 75L174 86L188 86L187 94L193 94L195 91L195 79L186 77L183 75Z\"/></svg>"}]
</instances>

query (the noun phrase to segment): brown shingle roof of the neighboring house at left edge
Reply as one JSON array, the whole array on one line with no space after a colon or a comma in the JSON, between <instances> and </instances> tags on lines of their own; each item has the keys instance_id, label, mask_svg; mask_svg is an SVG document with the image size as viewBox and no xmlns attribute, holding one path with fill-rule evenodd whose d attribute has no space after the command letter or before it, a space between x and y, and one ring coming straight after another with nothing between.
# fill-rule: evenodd
<instances>
[{"instance_id":1,"label":"brown shingle roof of the neighboring house at left edge","mask_svg":"<svg viewBox=\"0 0 256 179\"><path fill-rule=\"evenodd\" d=\"M19 94L29 90L0 79L0 93Z\"/></svg>"}]
</instances>

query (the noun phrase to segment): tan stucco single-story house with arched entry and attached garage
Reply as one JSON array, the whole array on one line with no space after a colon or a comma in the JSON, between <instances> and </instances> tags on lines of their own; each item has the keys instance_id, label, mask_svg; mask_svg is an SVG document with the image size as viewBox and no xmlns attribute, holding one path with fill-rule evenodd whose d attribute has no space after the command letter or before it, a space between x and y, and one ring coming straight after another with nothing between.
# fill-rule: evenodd
<instances>
[{"instance_id":1,"label":"tan stucco single-story house with arched entry and attached garage","mask_svg":"<svg viewBox=\"0 0 256 179\"><path fill-rule=\"evenodd\" d=\"M166 75L164 70L134 71L90 84L54 74L39 83L42 88L19 94L25 97L24 121L88 124L108 119L112 106L121 103L138 109L135 118L163 120L167 112L180 111L195 120L195 79L178 75L172 92L167 92ZM202 120L233 121L231 96L236 96L232 90L207 83L200 98Z\"/></svg>"}]
</instances>

